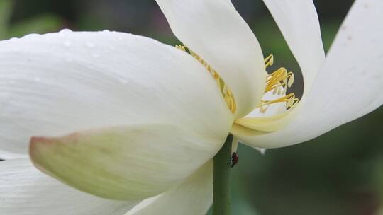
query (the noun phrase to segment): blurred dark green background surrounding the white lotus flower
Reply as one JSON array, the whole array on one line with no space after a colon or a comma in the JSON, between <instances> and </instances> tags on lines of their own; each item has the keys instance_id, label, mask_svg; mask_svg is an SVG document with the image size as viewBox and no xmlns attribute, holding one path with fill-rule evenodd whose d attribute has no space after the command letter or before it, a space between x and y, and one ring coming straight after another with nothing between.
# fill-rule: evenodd
<instances>
[{"instance_id":1,"label":"blurred dark green background surrounding the white lotus flower","mask_svg":"<svg viewBox=\"0 0 383 215\"><path fill-rule=\"evenodd\" d=\"M315 3L328 50L353 1ZM233 4L260 40L264 54L274 54L276 65L296 71L295 90L301 91L299 67L262 1ZM0 40L62 28L118 30L179 44L152 0L0 0ZM313 141L268 150L265 155L240 146L240 163L232 178L233 214L379 214L382 120L383 108L379 108Z\"/></svg>"}]
</instances>

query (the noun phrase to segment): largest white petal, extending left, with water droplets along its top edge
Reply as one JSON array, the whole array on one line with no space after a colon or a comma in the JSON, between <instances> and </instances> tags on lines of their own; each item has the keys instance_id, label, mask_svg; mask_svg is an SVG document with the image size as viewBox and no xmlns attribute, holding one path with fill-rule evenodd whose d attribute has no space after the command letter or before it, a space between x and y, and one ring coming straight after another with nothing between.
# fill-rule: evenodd
<instances>
[{"instance_id":1,"label":"largest white petal, extending left, with water droplets along its top edge","mask_svg":"<svg viewBox=\"0 0 383 215\"><path fill-rule=\"evenodd\" d=\"M173 124L226 138L232 114L204 66L146 37L63 30L0 42L0 149L31 136Z\"/></svg>"}]
</instances>

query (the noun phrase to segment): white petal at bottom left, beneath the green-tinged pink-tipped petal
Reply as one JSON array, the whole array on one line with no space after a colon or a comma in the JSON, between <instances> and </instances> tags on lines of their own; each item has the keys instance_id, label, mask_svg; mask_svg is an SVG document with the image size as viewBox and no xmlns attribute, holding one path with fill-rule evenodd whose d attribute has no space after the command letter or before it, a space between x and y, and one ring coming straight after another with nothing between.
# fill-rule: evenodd
<instances>
[{"instance_id":1,"label":"white petal at bottom left, beneath the green-tinged pink-tipped petal","mask_svg":"<svg viewBox=\"0 0 383 215\"><path fill-rule=\"evenodd\" d=\"M40 173L28 158L0 162L0 214L123 215L135 202L101 199Z\"/></svg>"}]
</instances>

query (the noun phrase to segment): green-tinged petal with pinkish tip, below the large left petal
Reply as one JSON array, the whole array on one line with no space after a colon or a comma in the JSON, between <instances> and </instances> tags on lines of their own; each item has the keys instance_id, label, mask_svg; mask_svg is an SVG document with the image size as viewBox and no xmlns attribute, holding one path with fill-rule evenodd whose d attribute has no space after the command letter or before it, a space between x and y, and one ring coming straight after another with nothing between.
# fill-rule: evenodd
<instances>
[{"instance_id":1,"label":"green-tinged petal with pinkish tip, below the large left petal","mask_svg":"<svg viewBox=\"0 0 383 215\"><path fill-rule=\"evenodd\" d=\"M43 172L108 199L145 199L170 189L221 148L168 124L145 124L33 138L30 157Z\"/></svg>"}]
</instances>

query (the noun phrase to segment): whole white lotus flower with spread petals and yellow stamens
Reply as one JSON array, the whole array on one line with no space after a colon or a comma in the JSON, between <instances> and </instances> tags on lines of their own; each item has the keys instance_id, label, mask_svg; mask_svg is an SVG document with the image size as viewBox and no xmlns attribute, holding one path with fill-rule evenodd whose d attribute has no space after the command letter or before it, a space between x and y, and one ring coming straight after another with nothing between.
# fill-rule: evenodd
<instances>
[{"instance_id":1,"label":"whole white lotus flower with spread petals and yellow stamens","mask_svg":"<svg viewBox=\"0 0 383 215\"><path fill-rule=\"evenodd\" d=\"M0 214L204 214L229 132L288 146L382 105L383 1L355 1L326 61L312 1L264 1L301 67L299 103L265 101L290 75L266 77L229 0L157 0L191 54L109 31L0 42ZM35 170L30 136L58 136L31 140L38 168L106 199Z\"/></svg>"}]
</instances>

